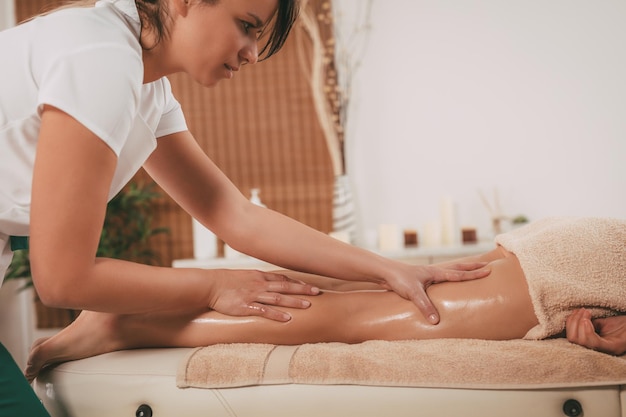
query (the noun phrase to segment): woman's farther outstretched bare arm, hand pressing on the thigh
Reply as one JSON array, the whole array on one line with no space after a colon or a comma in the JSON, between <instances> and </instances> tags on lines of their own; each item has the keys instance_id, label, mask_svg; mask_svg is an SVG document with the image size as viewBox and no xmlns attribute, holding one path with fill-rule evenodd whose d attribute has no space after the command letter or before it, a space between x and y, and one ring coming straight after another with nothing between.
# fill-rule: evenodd
<instances>
[{"instance_id":1,"label":"woman's farther outstretched bare arm, hand pressing on the thigh","mask_svg":"<svg viewBox=\"0 0 626 417\"><path fill-rule=\"evenodd\" d=\"M190 132L159 138L144 167L189 214L234 249L282 268L366 281L413 301L433 324L426 289L489 274L484 262L450 267L408 265L333 239L276 211L254 205L208 158Z\"/></svg>"}]
</instances>

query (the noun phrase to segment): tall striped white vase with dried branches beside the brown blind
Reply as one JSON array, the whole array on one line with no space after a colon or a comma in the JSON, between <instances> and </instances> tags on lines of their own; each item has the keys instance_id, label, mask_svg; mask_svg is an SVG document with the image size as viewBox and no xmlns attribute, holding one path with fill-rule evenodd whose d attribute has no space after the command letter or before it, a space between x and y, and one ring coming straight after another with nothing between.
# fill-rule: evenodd
<instances>
[{"instance_id":1,"label":"tall striped white vase with dried branches beside the brown blind","mask_svg":"<svg viewBox=\"0 0 626 417\"><path fill-rule=\"evenodd\" d=\"M353 80L371 27L372 1L355 2L357 13L351 14L354 19L348 25L343 12L338 8L333 10L330 1L301 3L300 24L306 36L299 41L309 47L298 48L300 62L310 80L315 111L335 175L333 232L347 235L350 242L356 238L356 207L346 170L345 139Z\"/></svg>"}]
</instances>

